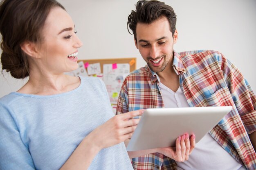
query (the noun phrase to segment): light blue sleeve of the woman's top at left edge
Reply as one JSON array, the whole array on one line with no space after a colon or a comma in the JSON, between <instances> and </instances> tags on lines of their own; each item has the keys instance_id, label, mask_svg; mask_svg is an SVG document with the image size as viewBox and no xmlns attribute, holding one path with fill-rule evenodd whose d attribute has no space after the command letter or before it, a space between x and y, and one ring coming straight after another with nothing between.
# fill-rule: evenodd
<instances>
[{"instance_id":1,"label":"light blue sleeve of the woman's top at left edge","mask_svg":"<svg viewBox=\"0 0 256 170\"><path fill-rule=\"evenodd\" d=\"M0 169L34 170L29 149L23 144L18 126L0 103Z\"/></svg>"}]
</instances>

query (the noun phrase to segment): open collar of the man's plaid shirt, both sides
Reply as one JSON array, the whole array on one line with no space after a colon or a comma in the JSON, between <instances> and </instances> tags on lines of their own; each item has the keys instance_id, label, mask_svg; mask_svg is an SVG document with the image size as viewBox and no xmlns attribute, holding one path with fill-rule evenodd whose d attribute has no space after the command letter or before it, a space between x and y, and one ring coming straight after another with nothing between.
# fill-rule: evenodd
<instances>
[{"instance_id":1,"label":"open collar of the man's plaid shirt, both sides","mask_svg":"<svg viewBox=\"0 0 256 170\"><path fill-rule=\"evenodd\" d=\"M181 60L181 56L179 53L177 53L175 51L173 51L173 68L177 75L182 74L182 73L186 74L186 70L184 69L184 66L183 66L183 63ZM160 82L159 76L155 72L150 70L148 65L146 65L146 70L148 70L152 73L150 76L152 83L155 83L156 81Z\"/></svg>"}]
</instances>

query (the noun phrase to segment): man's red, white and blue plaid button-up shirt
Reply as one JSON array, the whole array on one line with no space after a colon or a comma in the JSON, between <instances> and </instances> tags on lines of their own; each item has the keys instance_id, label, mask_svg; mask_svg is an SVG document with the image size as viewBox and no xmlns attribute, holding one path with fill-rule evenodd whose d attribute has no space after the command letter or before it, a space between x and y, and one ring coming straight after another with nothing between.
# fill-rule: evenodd
<instances>
[{"instance_id":1,"label":"man's red, white and blue plaid button-up shirt","mask_svg":"<svg viewBox=\"0 0 256 170\"><path fill-rule=\"evenodd\" d=\"M241 72L223 54L212 50L174 52L173 68L190 107L233 106L209 133L234 159L256 169L256 153L248 134L256 131L256 95ZM126 77L117 114L164 107L156 73L148 66ZM172 159L152 153L132 159L135 170L176 169Z\"/></svg>"}]
</instances>

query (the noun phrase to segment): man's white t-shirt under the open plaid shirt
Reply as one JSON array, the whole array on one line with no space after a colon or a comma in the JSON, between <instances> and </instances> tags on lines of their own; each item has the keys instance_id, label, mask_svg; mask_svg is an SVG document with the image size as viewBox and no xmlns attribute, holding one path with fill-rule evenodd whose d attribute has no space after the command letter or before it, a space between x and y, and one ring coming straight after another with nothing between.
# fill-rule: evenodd
<instances>
[{"instance_id":1,"label":"man's white t-shirt under the open plaid shirt","mask_svg":"<svg viewBox=\"0 0 256 170\"><path fill-rule=\"evenodd\" d=\"M165 107L189 107L180 87L177 92L162 83L159 83L159 87ZM187 161L176 163L177 170L246 170L209 133L195 145Z\"/></svg>"}]
</instances>

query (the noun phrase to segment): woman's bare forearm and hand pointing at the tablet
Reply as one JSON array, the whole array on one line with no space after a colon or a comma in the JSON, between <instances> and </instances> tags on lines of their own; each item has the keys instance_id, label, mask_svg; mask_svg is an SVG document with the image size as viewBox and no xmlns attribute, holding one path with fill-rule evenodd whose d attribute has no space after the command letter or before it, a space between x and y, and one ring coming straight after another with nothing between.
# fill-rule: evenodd
<instances>
[{"instance_id":1,"label":"woman's bare forearm and hand pointing at the tablet","mask_svg":"<svg viewBox=\"0 0 256 170\"><path fill-rule=\"evenodd\" d=\"M124 142L132 136L139 120L131 118L142 113L143 110L137 110L116 115L106 123L98 126L83 139L61 167L61 170L70 170L71 168L75 170L88 169L101 149Z\"/></svg>"}]
</instances>

